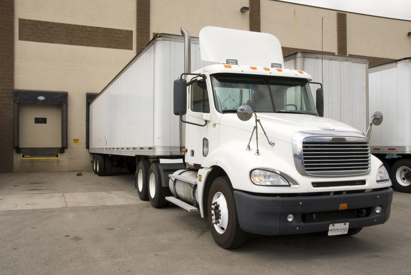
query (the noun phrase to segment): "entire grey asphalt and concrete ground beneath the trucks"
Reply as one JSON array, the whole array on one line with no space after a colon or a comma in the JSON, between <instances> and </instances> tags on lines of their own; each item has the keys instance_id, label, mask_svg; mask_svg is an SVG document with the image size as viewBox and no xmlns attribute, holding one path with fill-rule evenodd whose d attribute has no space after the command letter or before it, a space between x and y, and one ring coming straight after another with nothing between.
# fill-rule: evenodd
<instances>
[{"instance_id":1,"label":"entire grey asphalt and concrete ground beneath the trucks","mask_svg":"<svg viewBox=\"0 0 411 275\"><path fill-rule=\"evenodd\" d=\"M411 194L354 236L250 234L217 246L207 219L138 198L134 175L0 174L0 274L410 274Z\"/></svg>"}]
</instances>

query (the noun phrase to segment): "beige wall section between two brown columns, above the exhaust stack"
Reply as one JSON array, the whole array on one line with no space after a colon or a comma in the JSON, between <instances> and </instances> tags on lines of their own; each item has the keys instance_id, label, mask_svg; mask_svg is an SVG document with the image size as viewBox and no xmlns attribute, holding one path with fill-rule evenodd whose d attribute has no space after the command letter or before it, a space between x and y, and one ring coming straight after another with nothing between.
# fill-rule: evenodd
<instances>
[{"instance_id":1,"label":"beige wall section between two brown columns, above the exhaust stack","mask_svg":"<svg viewBox=\"0 0 411 275\"><path fill-rule=\"evenodd\" d=\"M150 33L181 34L183 27L198 37L206 26L249 30L250 12L240 12L241 7L249 6L249 0L151 0Z\"/></svg>"}]
</instances>

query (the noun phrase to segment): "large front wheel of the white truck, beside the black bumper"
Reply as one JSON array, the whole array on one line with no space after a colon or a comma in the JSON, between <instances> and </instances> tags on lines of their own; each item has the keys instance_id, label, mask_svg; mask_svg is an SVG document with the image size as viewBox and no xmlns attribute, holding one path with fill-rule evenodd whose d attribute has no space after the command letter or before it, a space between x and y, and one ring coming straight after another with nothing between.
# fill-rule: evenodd
<instances>
[{"instance_id":1,"label":"large front wheel of the white truck, beside the black bumper","mask_svg":"<svg viewBox=\"0 0 411 275\"><path fill-rule=\"evenodd\" d=\"M210 188L207 209L211 235L220 247L232 249L245 243L246 232L241 230L238 223L233 190L227 176L214 180Z\"/></svg>"}]
</instances>

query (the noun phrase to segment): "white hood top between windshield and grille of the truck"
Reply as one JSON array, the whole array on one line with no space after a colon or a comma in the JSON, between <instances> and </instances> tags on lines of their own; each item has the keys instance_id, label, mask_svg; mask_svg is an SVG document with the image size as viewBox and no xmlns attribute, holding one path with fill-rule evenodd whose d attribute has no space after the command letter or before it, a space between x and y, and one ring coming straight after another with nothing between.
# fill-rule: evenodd
<instances>
[{"instance_id":1,"label":"white hood top between windshield and grille of the truck","mask_svg":"<svg viewBox=\"0 0 411 275\"><path fill-rule=\"evenodd\" d=\"M300 131L324 131L325 135L327 134L326 132L329 133L329 131L360 133L357 129L337 120L312 115L257 113L257 119L260 120L269 138L290 143L294 133ZM253 115L249 121L241 121L236 114L224 114L221 116L220 125L251 133L255 125L255 115ZM258 123L257 126L258 134L264 135Z\"/></svg>"}]
</instances>

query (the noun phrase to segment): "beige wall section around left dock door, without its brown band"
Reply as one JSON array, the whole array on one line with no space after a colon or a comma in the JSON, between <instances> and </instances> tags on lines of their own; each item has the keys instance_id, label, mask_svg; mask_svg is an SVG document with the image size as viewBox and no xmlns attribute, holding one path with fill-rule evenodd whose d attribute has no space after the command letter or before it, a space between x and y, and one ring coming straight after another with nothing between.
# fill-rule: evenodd
<instances>
[{"instance_id":1,"label":"beige wall section around left dock door, without its brown band","mask_svg":"<svg viewBox=\"0 0 411 275\"><path fill-rule=\"evenodd\" d=\"M68 92L68 148L57 160L22 159L21 154L15 153L14 171L91 170L91 156L85 145L86 93L99 93L135 56L136 39L133 39L133 49L22 41L19 39L22 19L130 30L135 38L136 2L15 1L14 86L16 89ZM73 143L73 139L80 139L80 143Z\"/></svg>"}]
</instances>

